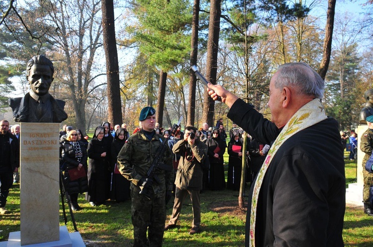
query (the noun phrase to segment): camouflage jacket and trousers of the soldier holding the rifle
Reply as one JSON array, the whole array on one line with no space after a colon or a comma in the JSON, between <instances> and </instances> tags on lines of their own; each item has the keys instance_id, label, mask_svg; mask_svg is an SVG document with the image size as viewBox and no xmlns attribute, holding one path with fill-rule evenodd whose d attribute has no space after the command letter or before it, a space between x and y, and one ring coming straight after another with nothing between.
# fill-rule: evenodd
<instances>
[{"instance_id":1,"label":"camouflage jacket and trousers of the soldier holding the rifle","mask_svg":"<svg viewBox=\"0 0 373 247\"><path fill-rule=\"evenodd\" d=\"M153 182L153 198L151 200L139 194L141 190L139 181L143 177L146 178L157 149L161 145L160 139L165 142L165 138L159 134L154 134L153 138L149 140L144 131L140 130L128 138L118 154L119 171L132 182L131 211L134 247L162 246L166 221L165 195L166 190L172 191L175 181L172 154L169 148L165 152L163 162L172 169L170 172L160 170L156 175L160 183ZM147 230L148 238L146 237Z\"/></svg>"}]
</instances>

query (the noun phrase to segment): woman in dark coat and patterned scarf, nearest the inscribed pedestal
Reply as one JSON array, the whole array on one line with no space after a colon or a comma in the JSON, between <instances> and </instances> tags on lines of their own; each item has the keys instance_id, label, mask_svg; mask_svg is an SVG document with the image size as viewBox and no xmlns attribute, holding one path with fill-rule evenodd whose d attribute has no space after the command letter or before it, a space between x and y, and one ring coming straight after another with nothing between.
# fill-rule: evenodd
<instances>
[{"instance_id":1,"label":"woman in dark coat and patterned scarf, nearest the inscribed pedestal","mask_svg":"<svg viewBox=\"0 0 373 247\"><path fill-rule=\"evenodd\" d=\"M65 162L64 180L66 183L66 191L70 195L71 209L81 210L78 204L78 194L88 190L87 179L87 149L83 142L79 140L79 136L75 130L67 133L64 148L62 150L62 159ZM82 170L82 177L74 178L70 173L75 170ZM76 173L78 173L78 171Z\"/></svg>"}]
</instances>

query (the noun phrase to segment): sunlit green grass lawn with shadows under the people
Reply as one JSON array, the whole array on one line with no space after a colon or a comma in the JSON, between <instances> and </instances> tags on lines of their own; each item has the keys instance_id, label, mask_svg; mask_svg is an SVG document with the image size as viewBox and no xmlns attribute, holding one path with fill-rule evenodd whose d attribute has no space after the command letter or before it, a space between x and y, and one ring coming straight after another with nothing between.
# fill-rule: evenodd
<instances>
[{"instance_id":1,"label":"sunlit green grass lawn with shadows under the people","mask_svg":"<svg viewBox=\"0 0 373 247\"><path fill-rule=\"evenodd\" d=\"M228 161L228 157L224 159ZM354 161L345 160L346 186L356 177ZM249 187L246 187L246 191ZM190 236L192 212L187 198L183 206L179 228L165 232L165 247L238 247L244 246L246 211L238 208L238 192L231 190L204 191L201 194L202 232ZM78 230L87 246L127 247L132 246L131 203L108 202L106 206L91 207L80 195L79 204L84 208L74 213ZM172 203L167 211L171 215ZM0 241L6 241L10 232L20 231L19 184L13 185L6 205L9 214L0 216ZM74 231L68 213L68 230ZM64 225L62 208L60 225ZM343 239L348 247L373 246L373 218L364 214L360 207L346 207Z\"/></svg>"}]
</instances>

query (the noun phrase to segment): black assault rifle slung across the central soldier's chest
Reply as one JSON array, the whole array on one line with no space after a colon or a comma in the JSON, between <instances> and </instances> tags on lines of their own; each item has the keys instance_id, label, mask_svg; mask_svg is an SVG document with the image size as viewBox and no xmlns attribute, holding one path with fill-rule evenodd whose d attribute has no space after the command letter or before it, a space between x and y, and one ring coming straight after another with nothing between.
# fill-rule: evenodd
<instances>
[{"instance_id":1,"label":"black assault rifle slung across the central soldier's chest","mask_svg":"<svg viewBox=\"0 0 373 247\"><path fill-rule=\"evenodd\" d=\"M183 116L180 117L178 124L174 124L172 126L172 133L173 134L175 134L176 131L178 130L178 127L180 126L180 123L182 122L182 119L183 119ZM149 171L148 171L148 174L147 174L148 175L147 181L140 191L140 194L144 195L149 200L152 199L152 189L151 189L151 187L152 187L153 181L155 181L157 184L161 183L161 181L157 177L158 172L160 170L165 170L165 171L168 171L168 172L171 172L172 170L174 170L174 168L172 166L167 166L166 164L163 164L161 162L161 160L163 158L163 155L165 154L167 148L169 148L168 140L170 139L170 137L171 137L171 134L169 135L169 137L166 138L166 140L164 142L162 141L162 139L159 139L161 141L161 145L158 147L157 153L156 153L155 158L153 160L153 163L149 168Z\"/></svg>"}]
</instances>

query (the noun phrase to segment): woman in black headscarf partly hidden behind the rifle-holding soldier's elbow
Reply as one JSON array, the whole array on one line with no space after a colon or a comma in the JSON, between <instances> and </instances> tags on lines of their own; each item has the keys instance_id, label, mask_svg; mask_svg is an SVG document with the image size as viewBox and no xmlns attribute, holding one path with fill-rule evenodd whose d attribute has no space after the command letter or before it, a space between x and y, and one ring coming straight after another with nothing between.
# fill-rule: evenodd
<instances>
[{"instance_id":1,"label":"woman in black headscarf partly hidden behind the rifle-holding soldier's elbow","mask_svg":"<svg viewBox=\"0 0 373 247\"><path fill-rule=\"evenodd\" d=\"M116 166L117 156L127 140L128 132L124 128L115 131L114 140L111 143L111 178L110 178L110 200L116 202L125 201L130 198L130 182L125 179Z\"/></svg>"}]
</instances>

